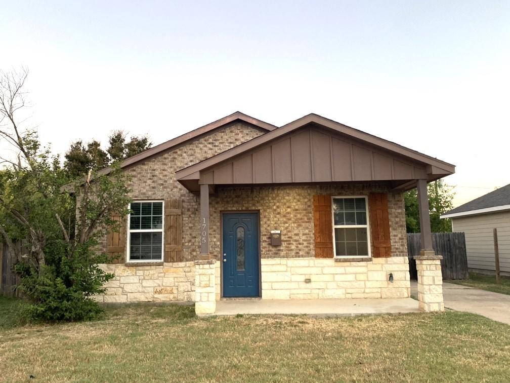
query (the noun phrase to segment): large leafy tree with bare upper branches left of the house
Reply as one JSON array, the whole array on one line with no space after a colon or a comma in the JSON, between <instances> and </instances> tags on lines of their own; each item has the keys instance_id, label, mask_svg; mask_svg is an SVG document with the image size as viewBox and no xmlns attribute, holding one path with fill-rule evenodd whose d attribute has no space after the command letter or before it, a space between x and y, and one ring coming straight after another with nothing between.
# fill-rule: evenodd
<instances>
[{"instance_id":1,"label":"large leafy tree with bare upper branches left of the house","mask_svg":"<svg viewBox=\"0 0 510 383\"><path fill-rule=\"evenodd\" d=\"M106 255L94 248L107 227L119 224L110 217L128 212L127 176L114 163L108 176L90 171L85 182L66 186L59 157L41 147L35 130L19 125L27 76L24 69L0 71L0 141L18 153L2 158L8 166L0 172L0 236L21 259L18 287L32 302L34 318L91 319L101 311L92 296L113 277L98 267Z\"/></svg>"}]
</instances>

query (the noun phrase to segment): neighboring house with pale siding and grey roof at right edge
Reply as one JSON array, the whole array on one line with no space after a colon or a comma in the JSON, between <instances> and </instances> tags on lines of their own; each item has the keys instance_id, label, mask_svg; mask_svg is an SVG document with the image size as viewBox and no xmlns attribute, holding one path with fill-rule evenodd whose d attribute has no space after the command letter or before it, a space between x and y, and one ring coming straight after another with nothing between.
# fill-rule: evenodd
<instances>
[{"instance_id":1,"label":"neighboring house with pale siding and grey roof at right edge","mask_svg":"<svg viewBox=\"0 0 510 383\"><path fill-rule=\"evenodd\" d=\"M498 231L501 274L510 275L510 184L448 211L452 231L466 235L468 268L494 272L494 235Z\"/></svg>"}]
</instances>

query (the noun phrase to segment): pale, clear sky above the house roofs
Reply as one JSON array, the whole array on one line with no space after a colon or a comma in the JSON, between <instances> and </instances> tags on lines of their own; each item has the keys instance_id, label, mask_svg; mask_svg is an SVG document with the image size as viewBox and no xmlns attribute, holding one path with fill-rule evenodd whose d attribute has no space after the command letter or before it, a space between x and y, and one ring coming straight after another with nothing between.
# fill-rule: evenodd
<instances>
[{"instance_id":1,"label":"pale, clear sky above the house roofs","mask_svg":"<svg viewBox=\"0 0 510 383\"><path fill-rule=\"evenodd\" d=\"M455 164L454 206L510 183L508 0L0 3L0 69L29 68L55 153L314 112Z\"/></svg>"}]
</instances>

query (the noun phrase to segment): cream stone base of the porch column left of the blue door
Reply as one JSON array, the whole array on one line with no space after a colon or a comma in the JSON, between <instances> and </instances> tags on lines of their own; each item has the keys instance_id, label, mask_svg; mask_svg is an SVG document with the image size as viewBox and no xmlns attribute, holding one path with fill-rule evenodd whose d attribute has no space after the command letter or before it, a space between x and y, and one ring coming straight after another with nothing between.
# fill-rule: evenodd
<instances>
[{"instance_id":1,"label":"cream stone base of the porch column left of the blue door","mask_svg":"<svg viewBox=\"0 0 510 383\"><path fill-rule=\"evenodd\" d=\"M216 311L215 259L195 261L195 314L208 315Z\"/></svg>"}]
</instances>

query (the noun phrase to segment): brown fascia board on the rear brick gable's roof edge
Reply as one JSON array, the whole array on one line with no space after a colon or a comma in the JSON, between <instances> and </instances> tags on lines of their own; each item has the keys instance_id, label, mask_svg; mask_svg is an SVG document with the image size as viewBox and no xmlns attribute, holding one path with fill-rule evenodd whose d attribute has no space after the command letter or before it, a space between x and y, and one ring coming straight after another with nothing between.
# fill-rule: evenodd
<instances>
[{"instance_id":1,"label":"brown fascia board on the rear brick gable's roof edge","mask_svg":"<svg viewBox=\"0 0 510 383\"><path fill-rule=\"evenodd\" d=\"M160 143L160 145L157 145L155 147L149 148L141 153L138 153L132 157L126 158L120 163L120 168L133 165L137 162L143 161L146 158L158 155L161 152L164 152L166 150L169 150L177 145L181 145L182 143L189 141L191 139L197 138L203 134L209 133L212 130L215 130L217 128L220 128L226 124L230 124L232 122L235 122L237 120L240 120L242 122L245 122L247 124L253 125L257 128L260 128L262 130L265 130L267 132L271 132L275 130L277 127L271 124L268 124L264 121L261 121L260 119L251 117L247 114L241 113L239 111L234 112L230 115L227 115L223 118L220 118L210 124L201 126L200 128L196 128L188 133L184 133L180 136L177 136L175 138L172 138L166 142ZM97 175L104 175L104 174L110 174L112 171L112 168L110 166L105 167L104 169L101 169L97 172ZM85 177L81 181L82 183L85 182ZM68 191L70 189L71 184L64 185L61 187L63 191Z\"/></svg>"}]
</instances>

